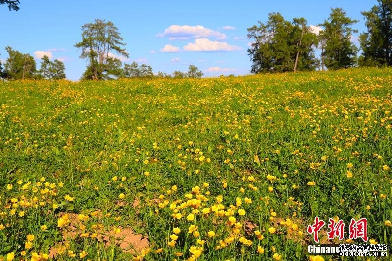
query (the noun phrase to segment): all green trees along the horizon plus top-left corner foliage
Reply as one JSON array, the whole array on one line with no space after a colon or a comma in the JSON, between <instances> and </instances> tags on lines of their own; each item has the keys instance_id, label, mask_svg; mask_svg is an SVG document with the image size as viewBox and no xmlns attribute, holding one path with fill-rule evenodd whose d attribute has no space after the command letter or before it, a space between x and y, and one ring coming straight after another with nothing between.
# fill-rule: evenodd
<instances>
[{"instance_id":1,"label":"all green trees along the horizon plus top-left corner foliage","mask_svg":"<svg viewBox=\"0 0 392 261\"><path fill-rule=\"evenodd\" d=\"M19 9L19 0L0 0L9 10ZM352 26L358 20L351 19L341 8L332 8L329 17L318 27L307 26L305 18L287 21L280 13L270 13L266 23L248 28L252 39L248 55L252 73L324 71L353 66L392 65L392 0L377 0L371 10L361 12L366 20L367 31L360 34L359 48L353 43ZM315 30L319 29L319 30ZM94 23L82 26L82 39L74 46L81 50L80 58L87 61L82 80L105 80L133 77L201 77L203 73L190 65L188 72L175 71L172 75L158 72L153 74L150 65L136 62L122 64L119 55L129 58L124 39L118 28L110 21L96 19ZM316 57L315 49L321 52ZM7 47L9 58L0 62L0 78L24 79L65 78L64 64L59 60L50 61L44 56L41 68L36 69L35 60Z\"/></svg>"}]
</instances>

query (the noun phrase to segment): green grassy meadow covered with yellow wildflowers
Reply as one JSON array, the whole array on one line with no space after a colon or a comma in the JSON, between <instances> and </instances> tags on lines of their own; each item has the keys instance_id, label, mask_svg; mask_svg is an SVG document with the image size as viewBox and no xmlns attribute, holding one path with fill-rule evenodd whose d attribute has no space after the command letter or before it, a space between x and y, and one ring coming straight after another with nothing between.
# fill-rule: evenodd
<instances>
[{"instance_id":1,"label":"green grassy meadow covered with yellow wildflowers","mask_svg":"<svg viewBox=\"0 0 392 261\"><path fill-rule=\"evenodd\" d=\"M391 86L390 68L0 83L0 257L339 259L307 254L316 216L391 245Z\"/></svg>"}]
</instances>

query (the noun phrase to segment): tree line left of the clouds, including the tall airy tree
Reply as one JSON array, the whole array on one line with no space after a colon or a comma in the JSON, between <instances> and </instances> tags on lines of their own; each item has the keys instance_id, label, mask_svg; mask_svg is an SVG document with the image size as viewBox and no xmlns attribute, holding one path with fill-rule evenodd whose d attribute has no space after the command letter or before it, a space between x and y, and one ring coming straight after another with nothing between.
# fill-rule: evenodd
<instances>
[{"instance_id":1,"label":"tree line left of the clouds, including the tall airy tree","mask_svg":"<svg viewBox=\"0 0 392 261\"><path fill-rule=\"evenodd\" d=\"M124 66L118 55L129 57L125 51L125 43L118 29L110 21L96 19L94 23L82 26L82 40L75 44L81 49L80 58L86 59L88 64L81 80L109 80L118 78L199 78L203 73L190 65L188 72L174 71L173 74L158 72L154 75L152 67L137 62L125 63ZM65 66L62 61L50 61L48 56L41 59L40 69L37 70L34 57L28 53L21 53L7 46L8 58L2 67L0 61L0 78L12 79L64 79Z\"/></svg>"}]
</instances>

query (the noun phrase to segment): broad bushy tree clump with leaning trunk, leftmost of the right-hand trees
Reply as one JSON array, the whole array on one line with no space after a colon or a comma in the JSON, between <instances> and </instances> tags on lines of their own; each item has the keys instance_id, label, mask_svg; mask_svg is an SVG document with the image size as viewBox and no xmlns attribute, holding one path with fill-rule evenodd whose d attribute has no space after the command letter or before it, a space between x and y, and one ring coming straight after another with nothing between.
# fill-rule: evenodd
<instances>
[{"instance_id":1,"label":"broad bushy tree clump with leaning trunk, leftmost of the right-hand trees","mask_svg":"<svg viewBox=\"0 0 392 261\"><path fill-rule=\"evenodd\" d=\"M304 18L286 21L279 13L270 13L266 24L248 28L252 45L248 54L252 73L313 70L313 46L317 37L306 26Z\"/></svg>"}]
</instances>

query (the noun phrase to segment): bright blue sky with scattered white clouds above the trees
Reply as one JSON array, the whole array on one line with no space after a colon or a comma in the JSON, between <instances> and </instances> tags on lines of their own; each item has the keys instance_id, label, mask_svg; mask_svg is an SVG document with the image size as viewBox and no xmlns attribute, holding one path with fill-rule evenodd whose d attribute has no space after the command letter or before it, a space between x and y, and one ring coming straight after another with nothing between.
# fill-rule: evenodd
<instances>
[{"instance_id":1,"label":"bright blue sky with scattered white clouds above the trees","mask_svg":"<svg viewBox=\"0 0 392 261\"><path fill-rule=\"evenodd\" d=\"M125 63L147 63L154 72L166 73L187 71L194 64L205 76L215 76L249 73L247 28L265 22L270 12L280 12L287 20L305 17L309 25L317 25L331 8L341 7L360 20L353 27L362 32L361 11L376 4L376 0L20 1L18 12L0 6L1 59L7 58L7 45L37 61L49 54L64 61L71 80L80 78L87 63L73 45L81 40L81 26L96 18L118 27L130 54Z\"/></svg>"}]
</instances>

